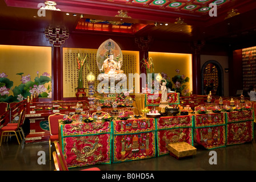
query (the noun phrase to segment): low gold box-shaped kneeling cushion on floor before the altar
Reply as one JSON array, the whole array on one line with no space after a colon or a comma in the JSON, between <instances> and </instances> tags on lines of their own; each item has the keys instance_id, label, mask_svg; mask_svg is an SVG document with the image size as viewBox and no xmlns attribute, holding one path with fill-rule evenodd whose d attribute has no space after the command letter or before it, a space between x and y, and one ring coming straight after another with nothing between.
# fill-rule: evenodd
<instances>
[{"instance_id":1,"label":"low gold box-shaped kneeling cushion on floor before the altar","mask_svg":"<svg viewBox=\"0 0 256 182\"><path fill-rule=\"evenodd\" d=\"M169 143L167 148L170 151L170 155L177 159L187 158L197 154L197 148L187 142Z\"/></svg>"}]
</instances>

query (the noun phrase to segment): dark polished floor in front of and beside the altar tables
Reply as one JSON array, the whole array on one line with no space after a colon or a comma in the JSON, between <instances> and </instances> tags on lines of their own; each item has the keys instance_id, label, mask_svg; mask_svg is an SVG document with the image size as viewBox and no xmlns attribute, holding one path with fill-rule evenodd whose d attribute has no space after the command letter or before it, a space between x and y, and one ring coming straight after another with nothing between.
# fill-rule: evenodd
<instances>
[{"instance_id":1,"label":"dark polished floor in front of and beside the altar tables","mask_svg":"<svg viewBox=\"0 0 256 182\"><path fill-rule=\"evenodd\" d=\"M255 130L254 130L255 133ZM177 160L173 156L164 155L157 158L135 160L117 164L98 164L94 167L102 171L255 171L256 170L256 143L237 144L215 148L217 164L209 164L211 150L197 147L197 155L193 158ZM54 148L52 149L54 150ZM45 151L46 163L38 164L38 152ZM49 160L48 142L27 143L18 145L15 138L2 143L0 147L0 170L5 171L53 171L53 160ZM70 171L86 167L71 168Z\"/></svg>"}]
</instances>

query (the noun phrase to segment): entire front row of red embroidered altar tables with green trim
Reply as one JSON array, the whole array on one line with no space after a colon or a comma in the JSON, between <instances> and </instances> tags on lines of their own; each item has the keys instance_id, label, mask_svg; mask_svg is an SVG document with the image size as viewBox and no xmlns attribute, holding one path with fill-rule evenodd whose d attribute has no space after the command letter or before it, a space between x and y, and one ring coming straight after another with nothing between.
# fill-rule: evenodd
<instances>
[{"instance_id":1,"label":"entire front row of red embroidered altar tables with green trim","mask_svg":"<svg viewBox=\"0 0 256 182\"><path fill-rule=\"evenodd\" d=\"M59 125L68 167L119 163L169 154L171 142L213 149L253 140L254 111L178 115Z\"/></svg>"}]
</instances>

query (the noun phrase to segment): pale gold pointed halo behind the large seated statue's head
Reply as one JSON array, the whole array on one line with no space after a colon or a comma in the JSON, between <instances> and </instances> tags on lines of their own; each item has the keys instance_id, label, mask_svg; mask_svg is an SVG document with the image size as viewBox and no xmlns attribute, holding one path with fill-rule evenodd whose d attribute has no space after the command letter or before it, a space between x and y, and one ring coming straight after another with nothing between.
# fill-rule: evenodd
<instances>
[{"instance_id":1,"label":"pale gold pointed halo behind the large seated statue's head","mask_svg":"<svg viewBox=\"0 0 256 182\"><path fill-rule=\"evenodd\" d=\"M117 61L117 63L119 64L119 69L121 69L122 67L123 53L121 51L121 48L118 46L117 43L114 42L114 40L107 39L101 44L101 46L99 46L97 51L97 66L100 72L103 61L109 56L109 51L112 51L114 53L114 60Z\"/></svg>"}]
</instances>

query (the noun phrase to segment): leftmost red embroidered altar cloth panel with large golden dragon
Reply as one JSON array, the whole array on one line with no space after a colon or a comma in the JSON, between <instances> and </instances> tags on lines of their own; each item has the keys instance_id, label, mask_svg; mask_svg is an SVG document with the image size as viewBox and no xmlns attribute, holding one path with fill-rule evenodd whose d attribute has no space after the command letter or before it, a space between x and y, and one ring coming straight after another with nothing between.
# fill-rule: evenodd
<instances>
[{"instance_id":1,"label":"leftmost red embroidered altar cloth panel with large golden dragon","mask_svg":"<svg viewBox=\"0 0 256 182\"><path fill-rule=\"evenodd\" d=\"M111 163L111 122L59 124L67 166Z\"/></svg>"}]
</instances>

